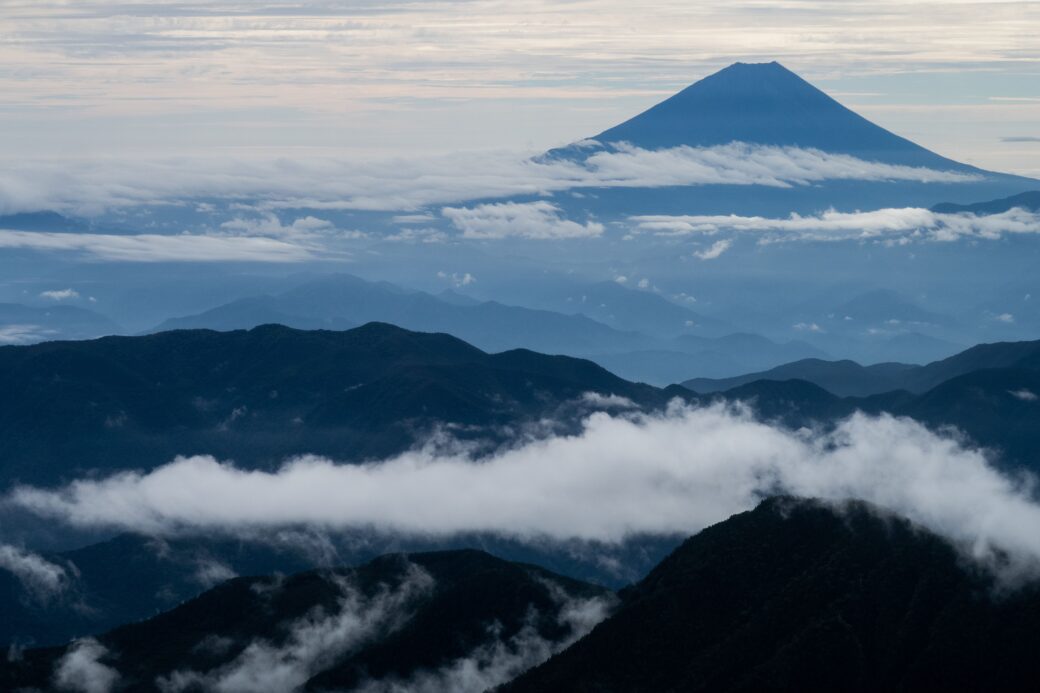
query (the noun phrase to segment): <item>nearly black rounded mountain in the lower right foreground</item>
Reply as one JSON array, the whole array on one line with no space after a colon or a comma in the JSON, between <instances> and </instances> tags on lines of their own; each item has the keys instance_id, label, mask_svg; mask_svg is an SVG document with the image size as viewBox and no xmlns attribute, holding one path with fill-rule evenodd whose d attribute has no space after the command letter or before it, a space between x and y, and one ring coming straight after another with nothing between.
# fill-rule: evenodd
<instances>
[{"instance_id":1,"label":"nearly black rounded mountain in the lower right foreground","mask_svg":"<svg viewBox=\"0 0 1040 693\"><path fill-rule=\"evenodd\" d=\"M943 540L865 504L771 499L688 539L503 690L1034 690L1040 592L990 587Z\"/></svg>"}]
</instances>

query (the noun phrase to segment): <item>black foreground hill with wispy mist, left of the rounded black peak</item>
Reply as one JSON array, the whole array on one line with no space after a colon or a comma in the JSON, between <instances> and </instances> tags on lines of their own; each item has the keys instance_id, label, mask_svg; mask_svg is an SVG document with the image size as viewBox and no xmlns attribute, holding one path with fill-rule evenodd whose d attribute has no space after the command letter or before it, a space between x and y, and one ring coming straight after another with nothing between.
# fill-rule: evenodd
<instances>
[{"instance_id":1,"label":"black foreground hill with wispy mist, left of the rounded black peak","mask_svg":"<svg viewBox=\"0 0 1040 693\"><path fill-rule=\"evenodd\" d=\"M162 681L166 690L222 682L248 690L250 681L350 690L477 662L495 645L513 656L498 664L519 666L526 656L530 666L540 646L551 651L588 627L568 610L595 618L610 601L600 588L482 551L386 556L353 569L232 580L101 636L99 661L119 671L119 691L153 691ZM29 650L0 664L0 687L48 688L69 651Z\"/></svg>"}]
</instances>

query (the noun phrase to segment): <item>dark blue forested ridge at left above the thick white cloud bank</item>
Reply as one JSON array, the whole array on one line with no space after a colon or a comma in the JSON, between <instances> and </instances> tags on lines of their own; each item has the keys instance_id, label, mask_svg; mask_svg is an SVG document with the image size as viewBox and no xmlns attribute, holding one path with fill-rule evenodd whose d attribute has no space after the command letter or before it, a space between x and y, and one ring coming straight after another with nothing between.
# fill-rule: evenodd
<instances>
[{"instance_id":1,"label":"dark blue forested ridge at left above the thick white cloud bank","mask_svg":"<svg viewBox=\"0 0 1040 693\"><path fill-rule=\"evenodd\" d=\"M544 416L566 426L588 411L574 401L589 391L668 397L588 361L489 355L383 324L0 348L0 477L50 484L191 454L251 466L303 453L359 460L400 452L439 422L491 439Z\"/></svg>"}]
</instances>

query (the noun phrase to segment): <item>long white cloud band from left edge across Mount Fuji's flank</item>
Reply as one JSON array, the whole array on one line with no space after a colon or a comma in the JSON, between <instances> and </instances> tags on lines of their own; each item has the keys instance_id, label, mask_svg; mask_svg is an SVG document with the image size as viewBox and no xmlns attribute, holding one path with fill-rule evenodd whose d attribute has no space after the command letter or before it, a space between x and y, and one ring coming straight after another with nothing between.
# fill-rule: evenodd
<instances>
[{"instance_id":1,"label":"long white cloud band from left edge across Mount Fuji's flank","mask_svg":"<svg viewBox=\"0 0 1040 693\"><path fill-rule=\"evenodd\" d=\"M408 212L431 205L574 188L714 184L792 187L828 180L958 183L978 179L974 174L742 143L664 150L616 144L579 161L487 152L368 162L94 161L8 168L0 174L0 212L57 210L89 215L200 197L253 199L268 211L310 208ZM417 219L407 216L409 221Z\"/></svg>"}]
</instances>

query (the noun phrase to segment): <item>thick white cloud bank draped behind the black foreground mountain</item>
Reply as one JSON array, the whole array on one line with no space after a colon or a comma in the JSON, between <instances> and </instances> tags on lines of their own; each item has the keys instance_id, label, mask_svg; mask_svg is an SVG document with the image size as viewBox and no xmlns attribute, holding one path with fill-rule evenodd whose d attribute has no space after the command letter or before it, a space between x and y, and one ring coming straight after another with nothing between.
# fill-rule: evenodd
<instances>
[{"instance_id":1,"label":"thick white cloud bank draped behind the black foreground mountain","mask_svg":"<svg viewBox=\"0 0 1040 693\"><path fill-rule=\"evenodd\" d=\"M594 414L579 435L479 461L439 450L365 465L304 457L277 471L179 458L58 489L15 488L6 504L76 527L155 534L312 525L621 542L695 533L784 492L862 498L980 560L1007 551L1009 571L1040 565L1040 505L1029 485L909 419L857 414L830 433L790 432L740 408L674 404L659 415Z\"/></svg>"}]
</instances>

